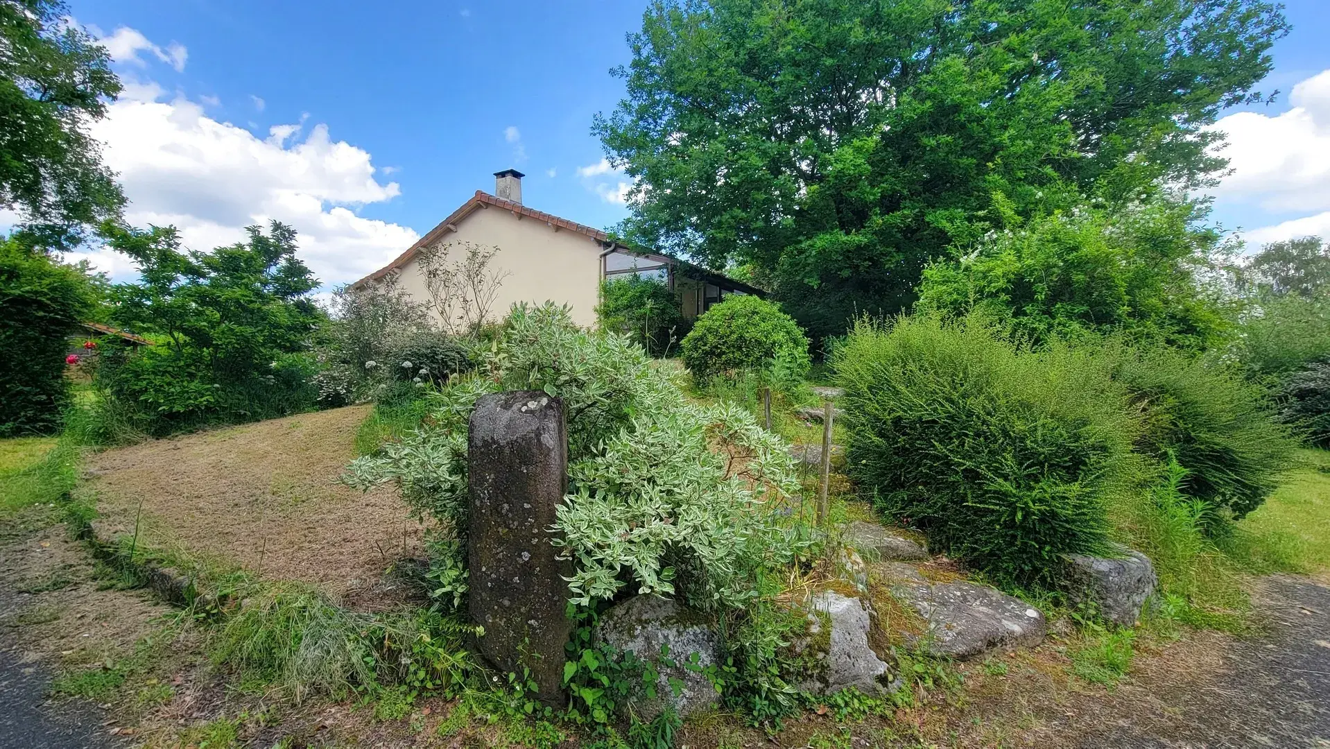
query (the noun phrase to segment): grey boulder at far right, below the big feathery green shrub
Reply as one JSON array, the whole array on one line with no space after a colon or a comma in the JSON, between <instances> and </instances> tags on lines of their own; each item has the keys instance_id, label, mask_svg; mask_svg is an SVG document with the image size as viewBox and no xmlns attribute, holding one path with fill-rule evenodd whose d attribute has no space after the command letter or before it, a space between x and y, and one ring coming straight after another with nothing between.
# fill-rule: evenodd
<instances>
[{"instance_id":1,"label":"grey boulder at far right, below the big feathery green shrub","mask_svg":"<svg viewBox=\"0 0 1330 749\"><path fill-rule=\"evenodd\" d=\"M1158 587L1158 577L1144 553L1124 545L1117 551L1120 559L1067 555L1063 581L1073 604L1091 604L1105 621L1132 627Z\"/></svg>"}]
</instances>

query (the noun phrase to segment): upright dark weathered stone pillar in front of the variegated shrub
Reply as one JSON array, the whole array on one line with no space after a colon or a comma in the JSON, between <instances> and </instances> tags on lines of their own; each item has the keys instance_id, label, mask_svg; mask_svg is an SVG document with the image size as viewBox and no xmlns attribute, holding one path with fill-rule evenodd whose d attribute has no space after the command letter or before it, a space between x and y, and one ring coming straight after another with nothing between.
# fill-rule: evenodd
<instances>
[{"instance_id":1,"label":"upright dark weathered stone pillar in front of the variegated shrub","mask_svg":"<svg viewBox=\"0 0 1330 749\"><path fill-rule=\"evenodd\" d=\"M555 559L548 528L568 488L564 402L539 391L476 402L468 438L471 504L467 608L484 627L480 652L504 672L531 669L537 697L561 706L567 561Z\"/></svg>"}]
</instances>

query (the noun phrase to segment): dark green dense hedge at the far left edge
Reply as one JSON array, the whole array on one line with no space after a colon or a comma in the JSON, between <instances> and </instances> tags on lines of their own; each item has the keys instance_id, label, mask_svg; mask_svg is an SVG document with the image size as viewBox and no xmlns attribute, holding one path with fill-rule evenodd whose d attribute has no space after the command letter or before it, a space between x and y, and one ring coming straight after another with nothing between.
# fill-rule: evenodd
<instances>
[{"instance_id":1,"label":"dark green dense hedge at the far left edge","mask_svg":"<svg viewBox=\"0 0 1330 749\"><path fill-rule=\"evenodd\" d=\"M68 337L94 301L82 270L0 239L0 436L60 426Z\"/></svg>"}]
</instances>

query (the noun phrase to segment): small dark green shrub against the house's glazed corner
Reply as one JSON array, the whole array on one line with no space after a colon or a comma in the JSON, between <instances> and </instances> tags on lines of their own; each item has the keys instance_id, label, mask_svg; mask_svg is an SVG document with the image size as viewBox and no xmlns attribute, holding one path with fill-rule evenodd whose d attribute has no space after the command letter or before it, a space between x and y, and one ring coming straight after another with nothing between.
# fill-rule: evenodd
<instances>
[{"instance_id":1,"label":"small dark green shrub against the house's glazed corner","mask_svg":"<svg viewBox=\"0 0 1330 749\"><path fill-rule=\"evenodd\" d=\"M601 330L628 335L653 357L664 357L688 333L680 299L662 281L626 275L600 285L596 319Z\"/></svg>"}]
</instances>

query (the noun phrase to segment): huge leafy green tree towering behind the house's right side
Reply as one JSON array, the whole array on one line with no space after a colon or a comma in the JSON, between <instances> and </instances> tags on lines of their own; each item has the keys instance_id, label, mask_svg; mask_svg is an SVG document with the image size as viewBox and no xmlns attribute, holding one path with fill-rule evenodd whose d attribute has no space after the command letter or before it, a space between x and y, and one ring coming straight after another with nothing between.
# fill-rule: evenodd
<instances>
[{"instance_id":1,"label":"huge leafy green tree towering behind the house's right side","mask_svg":"<svg viewBox=\"0 0 1330 749\"><path fill-rule=\"evenodd\" d=\"M1205 184L1286 32L1262 0L658 0L595 132L629 238L837 333L991 229Z\"/></svg>"}]
</instances>

